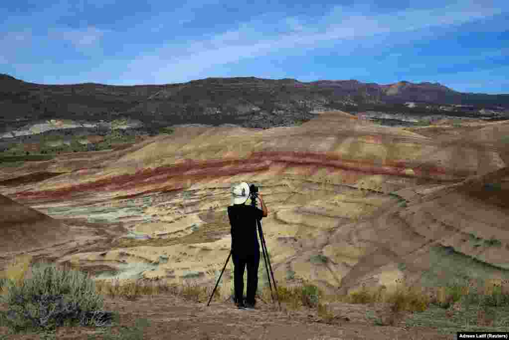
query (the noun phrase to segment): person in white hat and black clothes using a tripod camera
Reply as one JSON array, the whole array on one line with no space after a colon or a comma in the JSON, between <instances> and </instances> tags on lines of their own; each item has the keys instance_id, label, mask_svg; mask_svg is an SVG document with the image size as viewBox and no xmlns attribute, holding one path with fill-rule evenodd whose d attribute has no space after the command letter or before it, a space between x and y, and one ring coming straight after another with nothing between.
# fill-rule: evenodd
<instances>
[{"instance_id":1,"label":"person in white hat and black clothes using a tripod camera","mask_svg":"<svg viewBox=\"0 0 509 340\"><path fill-rule=\"evenodd\" d=\"M267 217L267 207L262 195L258 199L262 210L253 205L244 204L249 198L249 186L242 182L232 187L232 203L228 207L228 217L232 227L232 258L234 268L235 302L239 308L253 308L254 295L258 288L258 267L260 265L260 245L257 236L257 222ZM244 269L247 266L246 301L243 301Z\"/></svg>"}]
</instances>

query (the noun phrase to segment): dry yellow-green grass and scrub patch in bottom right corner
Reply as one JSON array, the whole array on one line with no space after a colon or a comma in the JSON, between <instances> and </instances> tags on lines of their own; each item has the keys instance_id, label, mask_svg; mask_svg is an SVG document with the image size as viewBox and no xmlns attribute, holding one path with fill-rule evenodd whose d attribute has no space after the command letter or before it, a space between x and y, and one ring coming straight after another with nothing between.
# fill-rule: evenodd
<instances>
[{"instance_id":1,"label":"dry yellow-green grass and scrub patch in bottom right corner","mask_svg":"<svg viewBox=\"0 0 509 340\"><path fill-rule=\"evenodd\" d=\"M336 297L335 301L348 303L388 303L388 313L374 320L376 325L395 326L407 316L420 315L419 326L439 327L438 320L452 322L454 327L494 327L502 329L509 325L504 310L509 307L509 280L473 280L464 284L423 289L404 280L396 280L394 286L367 288ZM417 314L415 314L417 313ZM472 320L473 319L473 320ZM497 328L498 327L498 328Z\"/></svg>"}]
</instances>

